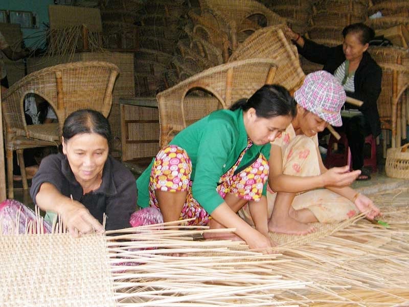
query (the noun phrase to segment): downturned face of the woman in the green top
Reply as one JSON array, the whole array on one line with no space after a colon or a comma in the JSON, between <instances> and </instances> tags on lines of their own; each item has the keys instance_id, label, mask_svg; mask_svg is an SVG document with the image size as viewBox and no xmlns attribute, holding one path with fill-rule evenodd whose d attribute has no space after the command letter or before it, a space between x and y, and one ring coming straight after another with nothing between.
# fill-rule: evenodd
<instances>
[{"instance_id":1,"label":"downturned face of the woman in the green top","mask_svg":"<svg viewBox=\"0 0 409 307\"><path fill-rule=\"evenodd\" d=\"M291 116L276 116L271 118L258 117L255 109L247 111L247 135L253 144L264 145L280 137L281 132L290 124Z\"/></svg>"}]
</instances>

